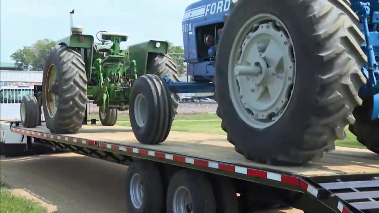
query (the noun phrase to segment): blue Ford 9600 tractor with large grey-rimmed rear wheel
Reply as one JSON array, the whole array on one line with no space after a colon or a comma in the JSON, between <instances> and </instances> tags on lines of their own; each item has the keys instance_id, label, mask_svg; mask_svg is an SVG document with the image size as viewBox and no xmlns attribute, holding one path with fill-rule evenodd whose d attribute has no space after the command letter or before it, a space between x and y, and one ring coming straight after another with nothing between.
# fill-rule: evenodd
<instances>
[{"instance_id":1,"label":"blue Ford 9600 tractor with large grey-rimmed rear wheel","mask_svg":"<svg viewBox=\"0 0 379 213\"><path fill-rule=\"evenodd\" d=\"M377 0L200 0L183 16L192 82L133 85L136 138L159 144L172 94L214 92L228 141L249 160L316 161L346 137L379 153ZM148 89L150 88L150 89Z\"/></svg>"}]
</instances>

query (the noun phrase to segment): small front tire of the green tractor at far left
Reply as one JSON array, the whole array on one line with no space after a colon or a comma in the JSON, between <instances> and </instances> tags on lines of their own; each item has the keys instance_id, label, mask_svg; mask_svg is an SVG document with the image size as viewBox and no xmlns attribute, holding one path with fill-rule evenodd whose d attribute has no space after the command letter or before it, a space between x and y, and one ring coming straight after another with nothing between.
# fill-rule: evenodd
<instances>
[{"instance_id":1,"label":"small front tire of the green tractor at far left","mask_svg":"<svg viewBox=\"0 0 379 213\"><path fill-rule=\"evenodd\" d=\"M25 106L25 117L22 116L22 107ZM39 121L39 107L35 96L27 95L22 97L20 104L21 124L26 128L37 127Z\"/></svg>"}]
</instances>

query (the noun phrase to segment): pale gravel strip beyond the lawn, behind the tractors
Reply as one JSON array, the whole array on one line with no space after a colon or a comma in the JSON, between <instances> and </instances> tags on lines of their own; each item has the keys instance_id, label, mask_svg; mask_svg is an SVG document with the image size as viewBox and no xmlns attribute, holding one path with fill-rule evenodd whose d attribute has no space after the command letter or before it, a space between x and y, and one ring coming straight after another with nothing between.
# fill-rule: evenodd
<instances>
[{"instance_id":1,"label":"pale gravel strip beyond the lawn, behind the tractors","mask_svg":"<svg viewBox=\"0 0 379 213\"><path fill-rule=\"evenodd\" d=\"M217 103L179 103L178 114L216 113ZM89 103L89 114L98 114L99 108ZM128 114L128 111L119 111L119 114Z\"/></svg>"}]
</instances>

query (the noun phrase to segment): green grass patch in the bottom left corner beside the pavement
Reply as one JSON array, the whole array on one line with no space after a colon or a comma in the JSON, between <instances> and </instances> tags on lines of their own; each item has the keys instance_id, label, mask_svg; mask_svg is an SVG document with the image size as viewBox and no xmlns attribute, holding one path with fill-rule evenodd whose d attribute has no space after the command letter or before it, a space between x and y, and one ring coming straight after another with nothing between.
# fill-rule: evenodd
<instances>
[{"instance_id":1,"label":"green grass patch in the bottom left corner beside the pavement","mask_svg":"<svg viewBox=\"0 0 379 213\"><path fill-rule=\"evenodd\" d=\"M0 212L1 213L46 213L46 210L39 204L15 196L6 186L0 186Z\"/></svg>"}]
</instances>

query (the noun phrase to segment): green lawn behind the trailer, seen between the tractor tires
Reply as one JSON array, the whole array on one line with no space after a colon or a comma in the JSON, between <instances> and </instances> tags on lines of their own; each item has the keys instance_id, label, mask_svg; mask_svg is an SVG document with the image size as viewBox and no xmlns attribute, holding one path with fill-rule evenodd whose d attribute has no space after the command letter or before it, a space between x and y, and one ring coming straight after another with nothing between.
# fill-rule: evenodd
<instances>
[{"instance_id":1,"label":"green lawn behind the trailer, seen between the tractor tires","mask_svg":"<svg viewBox=\"0 0 379 213\"><path fill-rule=\"evenodd\" d=\"M97 115L89 116L91 119L99 119ZM117 125L130 127L129 116L119 115L117 119ZM175 120L172 123L172 131L179 132L196 132L196 133L207 133L216 135L226 135L226 133L221 129L221 119L214 113L208 114L191 114L191 115L176 115ZM348 128L345 128L346 138L341 141L336 141L336 146L352 147L352 148L363 148L366 147L360 144L356 136L353 135Z\"/></svg>"}]
</instances>

